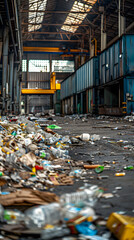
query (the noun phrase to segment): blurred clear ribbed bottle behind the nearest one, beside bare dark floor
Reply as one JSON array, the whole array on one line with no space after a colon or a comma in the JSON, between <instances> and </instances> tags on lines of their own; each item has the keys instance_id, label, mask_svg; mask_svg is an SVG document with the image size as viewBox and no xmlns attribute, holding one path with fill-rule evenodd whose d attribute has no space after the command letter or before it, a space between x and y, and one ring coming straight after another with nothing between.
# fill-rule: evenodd
<instances>
[{"instance_id":1,"label":"blurred clear ribbed bottle behind the nearest one, beside bare dark floor","mask_svg":"<svg viewBox=\"0 0 134 240\"><path fill-rule=\"evenodd\" d=\"M65 193L60 197L60 203L62 206L66 204L74 204L75 206L94 206L100 191L97 185L91 185L90 187L83 189L79 192Z\"/></svg>"}]
</instances>

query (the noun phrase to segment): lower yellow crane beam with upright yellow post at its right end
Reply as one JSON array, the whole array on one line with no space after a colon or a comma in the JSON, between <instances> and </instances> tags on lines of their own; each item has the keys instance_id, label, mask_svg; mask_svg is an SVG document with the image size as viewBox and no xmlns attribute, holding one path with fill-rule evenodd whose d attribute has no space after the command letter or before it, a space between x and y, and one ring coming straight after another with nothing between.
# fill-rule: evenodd
<instances>
[{"instance_id":1,"label":"lower yellow crane beam with upright yellow post at its right end","mask_svg":"<svg viewBox=\"0 0 134 240\"><path fill-rule=\"evenodd\" d=\"M60 89L61 89L61 85L60 85L60 83L56 83L56 73L53 72L51 74L51 78L50 78L50 89L23 88L23 89L21 89L21 94L28 94L28 95L30 95L30 94L54 94L56 92L56 90L60 90Z\"/></svg>"}]
</instances>

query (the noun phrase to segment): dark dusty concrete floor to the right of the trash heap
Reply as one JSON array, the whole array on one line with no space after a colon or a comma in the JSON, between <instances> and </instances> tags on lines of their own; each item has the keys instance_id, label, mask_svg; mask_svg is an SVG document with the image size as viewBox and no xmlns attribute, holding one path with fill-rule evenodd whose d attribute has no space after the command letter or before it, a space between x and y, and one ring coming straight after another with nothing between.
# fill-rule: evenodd
<instances>
[{"instance_id":1,"label":"dark dusty concrete floor to the right of the trash heap","mask_svg":"<svg viewBox=\"0 0 134 240\"><path fill-rule=\"evenodd\" d=\"M56 124L61 126L58 133L76 136L82 133L99 134L100 141L94 145L81 142L81 146L70 148L72 159L81 160L90 164L109 165L99 176L107 175L107 179L98 179L94 170L83 179L75 179L72 186L56 187L54 192L61 195L63 192L73 192L84 183L97 184L104 193L112 193L112 198L101 198L95 206L97 215L104 218L112 212L122 212L125 215L134 216L134 170L124 170L125 166L134 166L134 123L123 118L108 117L97 119L89 117L86 121L75 119L71 116L56 117ZM103 138L108 137L108 138ZM123 140L121 142L118 142ZM126 142L125 142L126 141ZM124 146L130 146L131 149ZM125 172L125 176L116 177L116 172ZM103 230L102 230L103 231ZM110 239L115 239L111 237Z\"/></svg>"}]
</instances>

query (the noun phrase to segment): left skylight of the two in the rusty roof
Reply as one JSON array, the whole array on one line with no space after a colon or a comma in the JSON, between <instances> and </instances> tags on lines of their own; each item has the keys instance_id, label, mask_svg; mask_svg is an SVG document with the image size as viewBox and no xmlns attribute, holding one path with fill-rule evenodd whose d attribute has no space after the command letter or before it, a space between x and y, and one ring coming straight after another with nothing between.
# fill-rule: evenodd
<instances>
[{"instance_id":1,"label":"left skylight of the two in the rusty roof","mask_svg":"<svg viewBox=\"0 0 134 240\"><path fill-rule=\"evenodd\" d=\"M44 13L36 12L37 10L45 11L47 5L47 0L29 0L29 10L34 12L29 12L29 23L38 23L38 25L28 25L28 31L36 31L41 27L43 21Z\"/></svg>"}]
</instances>

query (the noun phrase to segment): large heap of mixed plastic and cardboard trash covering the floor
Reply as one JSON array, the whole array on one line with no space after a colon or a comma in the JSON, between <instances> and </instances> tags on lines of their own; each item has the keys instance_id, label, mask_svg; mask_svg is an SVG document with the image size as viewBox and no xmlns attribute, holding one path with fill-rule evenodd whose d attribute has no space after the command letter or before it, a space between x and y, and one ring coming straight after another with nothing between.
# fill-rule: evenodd
<instances>
[{"instance_id":1,"label":"large heap of mixed plastic and cardboard trash covering the floor","mask_svg":"<svg viewBox=\"0 0 134 240\"><path fill-rule=\"evenodd\" d=\"M91 169L99 174L107 168L74 161L69 155L71 146L81 141L94 144L100 136L63 136L57 133L60 126L48 123L45 118L22 116L0 121L0 238L12 239L12 234L15 239L110 239L106 225L116 235L111 222L122 218L117 214L101 221L97 216L94 207L105 197L102 189L84 184L61 196L52 192L57 186L73 185ZM99 232L98 225L105 230Z\"/></svg>"}]
</instances>

